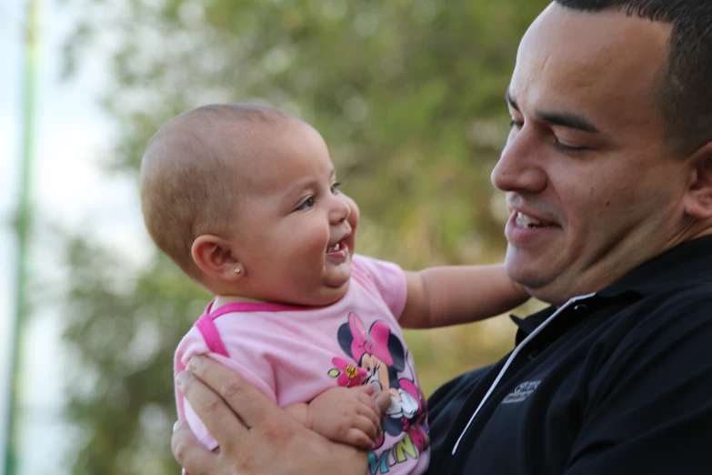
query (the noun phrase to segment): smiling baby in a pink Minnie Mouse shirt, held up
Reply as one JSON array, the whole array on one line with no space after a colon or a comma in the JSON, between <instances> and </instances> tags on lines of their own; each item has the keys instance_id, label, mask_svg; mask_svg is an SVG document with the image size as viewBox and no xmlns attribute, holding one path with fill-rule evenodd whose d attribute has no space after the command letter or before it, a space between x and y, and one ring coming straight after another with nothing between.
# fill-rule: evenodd
<instances>
[{"instance_id":1,"label":"smiling baby in a pink Minnie Mouse shirt, held up","mask_svg":"<svg viewBox=\"0 0 712 475\"><path fill-rule=\"evenodd\" d=\"M501 266L406 272L354 254L358 208L338 187L323 138L275 108L203 106L158 130L141 166L146 227L215 295L175 372L208 354L286 417L370 450L371 473L422 473L426 401L400 328L487 318L528 296ZM391 398L380 418L374 389ZM216 449L177 389L176 403Z\"/></svg>"}]
</instances>

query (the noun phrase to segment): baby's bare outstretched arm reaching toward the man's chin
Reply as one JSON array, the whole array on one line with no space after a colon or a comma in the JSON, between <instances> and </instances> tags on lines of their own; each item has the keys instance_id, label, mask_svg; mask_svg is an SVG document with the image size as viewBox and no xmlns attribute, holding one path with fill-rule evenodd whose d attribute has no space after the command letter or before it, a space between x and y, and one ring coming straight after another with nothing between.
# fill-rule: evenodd
<instances>
[{"instance_id":1,"label":"baby's bare outstretched arm reaching toward the man's chin","mask_svg":"<svg viewBox=\"0 0 712 475\"><path fill-rule=\"evenodd\" d=\"M494 317L529 298L503 265L446 266L406 272L403 328L446 327Z\"/></svg>"}]
</instances>

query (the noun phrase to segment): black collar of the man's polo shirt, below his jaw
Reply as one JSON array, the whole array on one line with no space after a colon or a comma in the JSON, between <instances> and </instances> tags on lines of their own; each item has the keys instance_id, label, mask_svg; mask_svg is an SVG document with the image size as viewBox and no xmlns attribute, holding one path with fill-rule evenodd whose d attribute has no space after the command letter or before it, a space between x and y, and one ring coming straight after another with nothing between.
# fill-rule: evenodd
<instances>
[{"instance_id":1,"label":"black collar of the man's polo shirt, below his jaw","mask_svg":"<svg viewBox=\"0 0 712 475\"><path fill-rule=\"evenodd\" d=\"M712 236L687 241L628 272L614 284L596 293L598 298L617 298L635 294L644 298L661 290L712 283ZM516 341L526 338L557 308L551 306L527 318L510 315L519 328Z\"/></svg>"}]
</instances>

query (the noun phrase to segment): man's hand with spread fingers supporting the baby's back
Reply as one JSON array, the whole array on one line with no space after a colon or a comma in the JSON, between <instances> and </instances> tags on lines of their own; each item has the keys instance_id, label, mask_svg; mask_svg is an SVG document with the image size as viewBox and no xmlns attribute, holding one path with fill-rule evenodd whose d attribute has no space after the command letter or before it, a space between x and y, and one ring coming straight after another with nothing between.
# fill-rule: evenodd
<instances>
[{"instance_id":1,"label":"man's hand with spread fingers supporting the baby's back","mask_svg":"<svg viewBox=\"0 0 712 475\"><path fill-rule=\"evenodd\" d=\"M212 359L195 357L177 381L220 446L219 453L207 450L180 424L171 445L175 460L191 475L366 472L366 452L306 429ZM376 399L379 417L389 403L389 398Z\"/></svg>"}]
</instances>

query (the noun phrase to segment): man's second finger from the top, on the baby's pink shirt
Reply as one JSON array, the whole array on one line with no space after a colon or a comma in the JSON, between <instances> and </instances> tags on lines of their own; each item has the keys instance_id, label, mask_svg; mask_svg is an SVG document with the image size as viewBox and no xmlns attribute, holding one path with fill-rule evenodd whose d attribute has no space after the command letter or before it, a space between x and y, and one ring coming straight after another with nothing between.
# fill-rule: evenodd
<instances>
[{"instance_id":1,"label":"man's second finger from the top, on the baby's pink shirt","mask_svg":"<svg viewBox=\"0 0 712 475\"><path fill-rule=\"evenodd\" d=\"M233 433L238 436L246 434L245 425L226 401L203 381L197 379L196 375L184 371L178 375L177 381L184 397L197 417L206 425L207 431L217 435L216 440L219 445L229 442L229 440L220 440L220 434Z\"/></svg>"}]
</instances>

